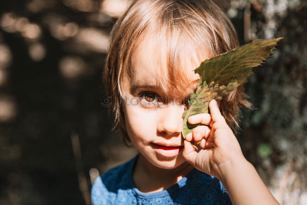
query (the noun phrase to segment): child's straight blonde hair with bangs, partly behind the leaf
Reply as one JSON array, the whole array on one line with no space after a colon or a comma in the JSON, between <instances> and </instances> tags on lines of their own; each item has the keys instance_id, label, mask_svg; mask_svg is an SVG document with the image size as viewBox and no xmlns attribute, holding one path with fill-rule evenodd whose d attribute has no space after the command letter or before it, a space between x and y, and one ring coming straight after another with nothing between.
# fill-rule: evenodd
<instances>
[{"instance_id":1,"label":"child's straight blonde hair with bangs, partly behind the leaf","mask_svg":"<svg viewBox=\"0 0 307 205\"><path fill-rule=\"evenodd\" d=\"M196 53L203 61L239 46L230 19L212 0L134 0L111 31L103 72L107 95L112 97L111 110L115 113L116 125L120 124L122 131L125 130L125 119L118 99L124 98L123 77L131 77L132 54L149 36L155 37L161 51L167 53L164 65L167 74L157 69L156 76L165 90L186 89L188 82L191 82L182 60L183 57L193 60L187 53ZM243 85L220 101L222 115L235 130L239 128L241 105L251 108ZM127 145L126 140L131 142L130 138L125 131L123 134Z\"/></svg>"}]
</instances>

